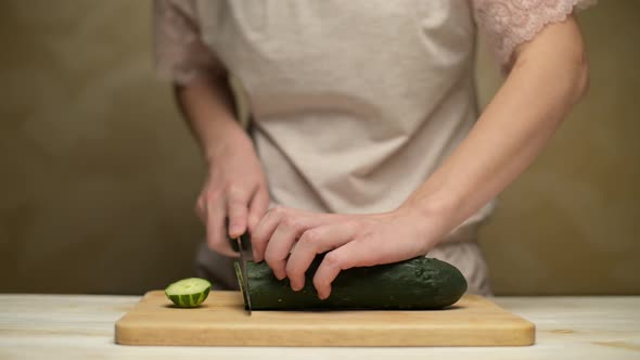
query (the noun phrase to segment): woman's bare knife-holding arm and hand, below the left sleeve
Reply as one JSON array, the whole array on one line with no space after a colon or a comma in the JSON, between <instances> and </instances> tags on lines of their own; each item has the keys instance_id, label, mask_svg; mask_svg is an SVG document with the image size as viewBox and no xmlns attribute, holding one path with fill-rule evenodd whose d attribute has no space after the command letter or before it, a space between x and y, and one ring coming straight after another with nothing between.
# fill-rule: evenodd
<instances>
[{"instance_id":1,"label":"woman's bare knife-holding arm and hand, below the left sleeve","mask_svg":"<svg viewBox=\"0 0 640 360\"><path fill-rule=\"evenodd\" d=\"M227 235L238 237L247 229L252 231L269 206L267 182L255 149L234 119L223 73L175 89L177 102L208 166L196 214L206 226L209 247L235 256ZM225 218L229 218L229 229Z\"/></svg>"}]
</instances>

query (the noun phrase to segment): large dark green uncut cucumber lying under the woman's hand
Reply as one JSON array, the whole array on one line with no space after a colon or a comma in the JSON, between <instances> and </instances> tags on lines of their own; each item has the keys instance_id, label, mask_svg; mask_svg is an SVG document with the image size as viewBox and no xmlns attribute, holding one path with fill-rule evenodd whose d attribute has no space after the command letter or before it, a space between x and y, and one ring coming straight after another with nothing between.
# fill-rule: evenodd
<instances>
[{"instance_id":1,"label":"large dark green uncut cucumber lying under the woman's hand","mask_svg":"<svg viewBox=\"0 0 640 360\"><path fill-rule=\"evenodd\" d=\"M248 261L252 310L432 310L455 304L466 292L466 280L458 268L438 259L418 257L344 270L333 281L329 298L320 300L312 278L322 258L316 257L299 292L291 290L289 279L278 280L266 262Z\"/></svg>"}]
</instances>

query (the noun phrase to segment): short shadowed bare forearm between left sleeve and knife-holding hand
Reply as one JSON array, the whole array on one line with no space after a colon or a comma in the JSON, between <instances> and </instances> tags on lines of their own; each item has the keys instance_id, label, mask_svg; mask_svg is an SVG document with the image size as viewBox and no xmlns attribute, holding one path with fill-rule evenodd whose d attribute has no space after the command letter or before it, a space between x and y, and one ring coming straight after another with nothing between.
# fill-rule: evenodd
<instances>
[{"instance_id":1,"label":"short shadowed bare forearm between left sleeve and knife-holding hand","mask_svg":"<svg viewBox=\"0 0 640 360\"><path fill-rule=\"evenodd\" d=\"M231 90L222 74L175 86L175 93L207 162L222 154L230 141L251 142L235 120Z\"/></svg>"}]
</instances>

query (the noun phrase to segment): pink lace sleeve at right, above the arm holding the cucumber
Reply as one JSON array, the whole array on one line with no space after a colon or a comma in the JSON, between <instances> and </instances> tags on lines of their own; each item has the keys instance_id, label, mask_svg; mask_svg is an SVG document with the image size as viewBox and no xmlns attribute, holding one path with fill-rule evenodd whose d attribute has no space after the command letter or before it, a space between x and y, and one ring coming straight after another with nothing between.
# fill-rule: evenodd
<instances>
[{"instance_id":1,"label":"pink lace sleeve at right, above the arm holding the cucumber","mask_svg":"<svg viewBox=\"0 0 640 360\"><path fill-rule=\"evenodd\" d=\"M513 50L533 39L547 24L561 22L574 8L584 9L597 0L472 0L476 23L498 56L509 66Z\"/></svg>"}]
</instances>

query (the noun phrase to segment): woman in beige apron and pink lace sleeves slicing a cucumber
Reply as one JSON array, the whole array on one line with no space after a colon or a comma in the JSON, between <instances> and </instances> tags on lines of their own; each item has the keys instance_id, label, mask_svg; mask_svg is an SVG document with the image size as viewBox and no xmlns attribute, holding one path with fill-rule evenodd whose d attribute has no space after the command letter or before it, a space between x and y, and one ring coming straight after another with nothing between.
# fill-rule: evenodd
<instances>
[{"instance_id":1,"label":"woman in beige apron and pink lace sleeves slicing a cucumber","mask_svg":"<svg viewBox=\"0 0 640 360\"><path fill-rule=\"evenodd\" d=\"M157 69L208 164L201 275L235 286L227 235L248 230L294 291L327 253L320 298L342 270L425 254L489 294L477 227L587 89L578 2L156 0ZM476 26L508 73L479 116Z\"/></svg>"}]
</instances>

